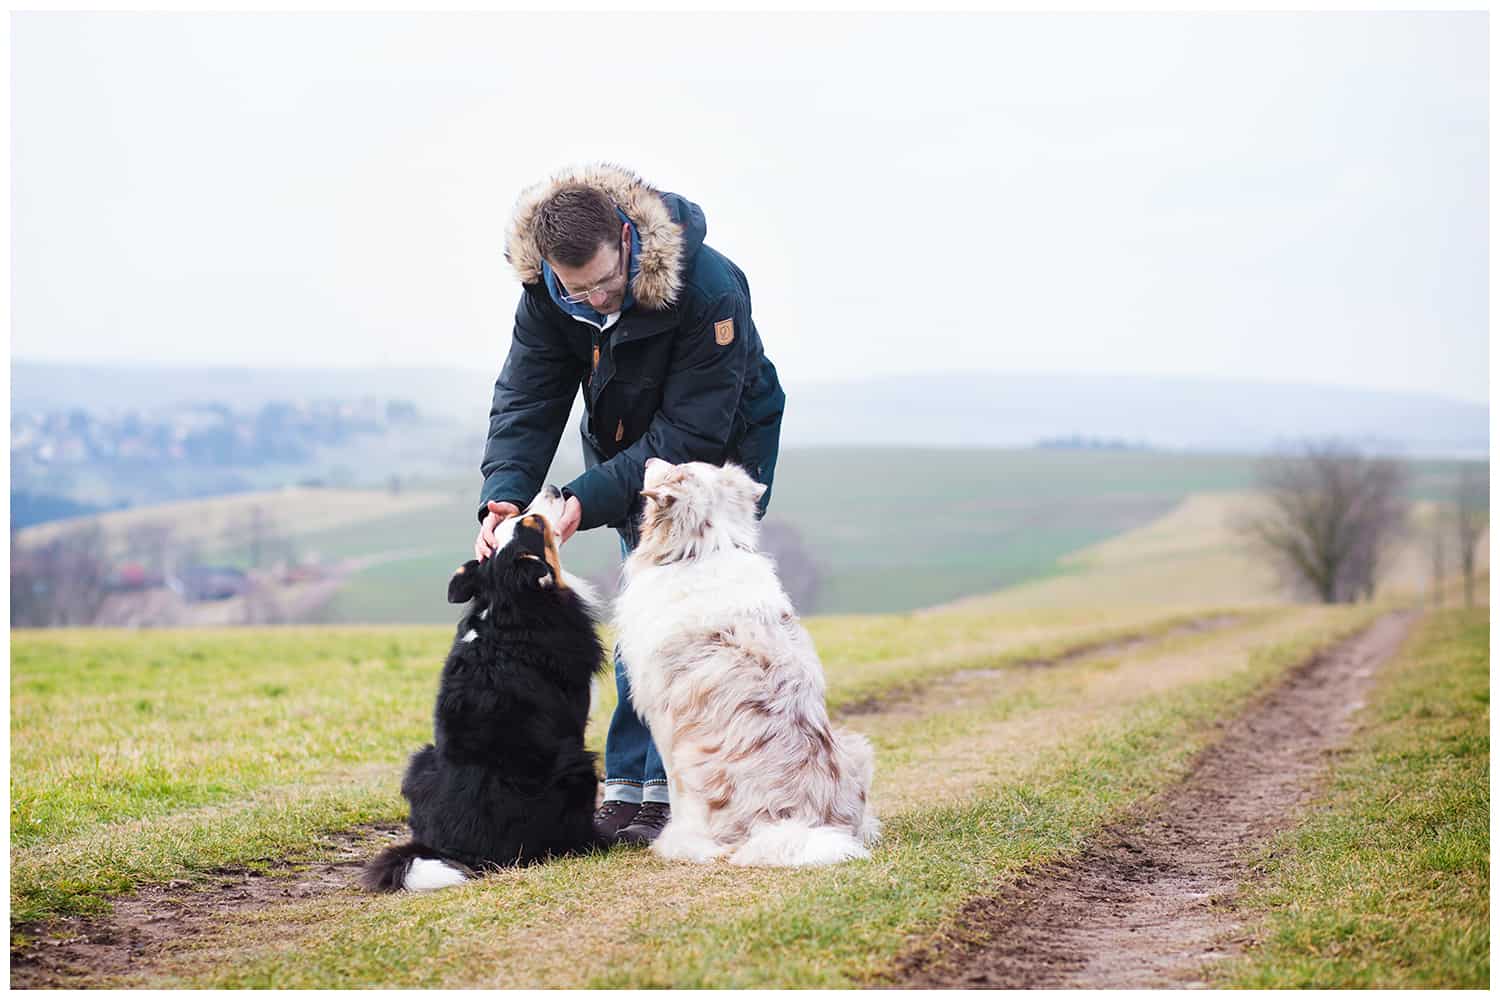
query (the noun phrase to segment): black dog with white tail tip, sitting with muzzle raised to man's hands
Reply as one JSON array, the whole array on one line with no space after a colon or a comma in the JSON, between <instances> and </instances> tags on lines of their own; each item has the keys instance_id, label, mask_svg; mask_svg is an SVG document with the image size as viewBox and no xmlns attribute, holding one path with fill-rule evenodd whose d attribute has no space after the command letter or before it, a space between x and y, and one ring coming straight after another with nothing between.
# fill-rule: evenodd
<instances>
[{"instance_id":1,"label":"black dog with white tail tip, sitting with muzzle raised to man's hands","mask_svg":"<svg viewBox=\"0 0 1500 1000\"><path fill-rule=\"evenodd\" d=\"M366 889L440 889L597 844L584 726L604 652L591 594L558 559L561 514L548 486L496 528L495 555L448 582L448 601L468 609L442 667L435 742L400 783L411 843L366 865Z\"/></svg>"}]
</instances>

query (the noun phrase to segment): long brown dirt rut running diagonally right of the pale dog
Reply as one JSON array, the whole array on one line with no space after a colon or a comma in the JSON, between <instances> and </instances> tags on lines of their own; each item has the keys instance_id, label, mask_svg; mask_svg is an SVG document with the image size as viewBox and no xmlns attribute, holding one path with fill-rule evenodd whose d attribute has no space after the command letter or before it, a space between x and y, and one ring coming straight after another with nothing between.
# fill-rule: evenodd
<instances>
[{"instance_id":1,"label":"long brown dirt rut running diagonally right of the pale dog","mask_svg":"<svg viewBox=\"0 0 1500 1000\"><path fill-rule=\"evenodd\" d=\"M1070 862L968 904L900 987L1200 987L1234 948L1250 850L1287 826L1347 739L1414 615L1395 613L1294 670L1228 723L1188 778Z\"/></svg>"}]
</instances>

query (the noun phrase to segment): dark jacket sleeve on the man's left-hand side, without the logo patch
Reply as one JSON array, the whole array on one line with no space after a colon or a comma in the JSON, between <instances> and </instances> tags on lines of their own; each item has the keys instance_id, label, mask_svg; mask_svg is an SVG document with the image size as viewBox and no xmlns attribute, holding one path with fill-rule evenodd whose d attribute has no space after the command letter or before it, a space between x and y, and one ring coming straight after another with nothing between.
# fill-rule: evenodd
<instances>
[{"instance_id":1,"label":"dark jacket sleeve on the man's left-hand side, without the logo patch","mask_svg":"<svg viewBox=\"0 0 1500 1000\"><path fill-rule=\"evenodd\" d=\"M484 477L480 520L489 501L525 507L542 489L585 367L550 331L531 295L522 292L510 354L489 408L489 438L478 466Z\"/></svg>"}]
</instances>

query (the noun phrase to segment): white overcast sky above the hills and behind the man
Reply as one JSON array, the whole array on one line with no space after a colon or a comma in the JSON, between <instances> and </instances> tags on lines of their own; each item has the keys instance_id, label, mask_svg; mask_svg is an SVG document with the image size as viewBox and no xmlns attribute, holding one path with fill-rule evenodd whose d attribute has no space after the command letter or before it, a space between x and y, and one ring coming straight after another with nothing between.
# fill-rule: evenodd
<instances>
[{"instance_id":1,"label":"white overcast sky above the hills and behind the man","mask_svg":"<svg viewBox=\"0 0 1500 1000\"><path fill-rule=\"evenodd\" d=\"M516 193L608 159L792 384L1488 399L1484 13L12 16L18 358L498 370Z\"/></svg>"}]
</instances>

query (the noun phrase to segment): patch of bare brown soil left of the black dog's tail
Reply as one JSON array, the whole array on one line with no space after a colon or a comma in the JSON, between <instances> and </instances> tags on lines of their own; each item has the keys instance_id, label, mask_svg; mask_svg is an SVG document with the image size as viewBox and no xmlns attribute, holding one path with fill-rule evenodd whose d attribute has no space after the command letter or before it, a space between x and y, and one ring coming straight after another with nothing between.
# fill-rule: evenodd
<instances>
[{"instance_id":1,"label":"patch of bare brown soil left of the black dog's tail","mask_svg":"<svg viewBox=\"0 0 1500 1000\"><path fill-rule=\"evenodd\" d=\"M10 952L12 990L99 985L147 964L243 910L356 891L360 867L402 840L405 823L362 826L333 838L332 856L268 871L222 868L200 880L148 886L114 901L111 913L12 927L27 943Z\"/></svg>"}]
</instances>

